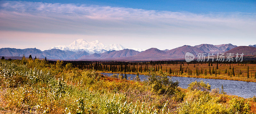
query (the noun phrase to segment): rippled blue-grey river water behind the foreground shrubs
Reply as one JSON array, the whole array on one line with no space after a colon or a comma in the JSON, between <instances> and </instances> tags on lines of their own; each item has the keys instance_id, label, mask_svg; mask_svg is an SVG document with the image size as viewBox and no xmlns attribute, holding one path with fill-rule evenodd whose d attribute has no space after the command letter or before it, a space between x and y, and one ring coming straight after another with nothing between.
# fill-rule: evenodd
<instances>
[{"instance_id":1,"label":"rippled blue-grey river water behind the foreground shrubs","mask_svg":"<svg viewBox=\"0 0 256 114\"><path fill-rule=\"evenodd\" d=\"M113 73L101 73L103 75L111 76ZM119 74L116 74L119 75ZM124 74L123 74L124 75ZM133 80L136 75L126 74L127 78ZM145 75L139 75L140 80L146 79ZM203 80L211 85L211 89L219 88L223 85L224 91L229 95L236 95L244 98L256 96L256 82L244 82L235 80L220 80L220 79L204 79L204 78L193 78L193 77L177 77L172 76L172 81L179 81L179 87L188 88L188 84L195 81Z\"/></svg>"}]
</instances>

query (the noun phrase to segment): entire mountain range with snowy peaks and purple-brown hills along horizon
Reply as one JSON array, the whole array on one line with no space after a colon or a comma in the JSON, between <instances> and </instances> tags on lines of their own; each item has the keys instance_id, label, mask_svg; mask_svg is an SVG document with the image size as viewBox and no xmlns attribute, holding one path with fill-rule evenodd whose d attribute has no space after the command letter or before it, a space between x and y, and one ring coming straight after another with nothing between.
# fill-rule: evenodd
<instances>
[{"instance_id":1,"label":"entire mountain range with snowy peaks and purple-brown hills along horizon","mask_svg":"<svg viewBox=\"0 0 256 114\"><path fill-rule=\"evenodd\" d=\"M253 45L255 46L255 45ZM198 53L244 53L245 55L255 55L256 47L235 46L232 44L200 44L196 46L180 46L174 49L159 50L150 48L145 51L133 49L124 49L120 44L111 44L105 46L98 40L88 42L83 39L77 39L68 46L54 46L49 50L41 51L36 48L16 49L1 48L0 56L7 57L28 57L34 58L60 59L60 60L170 60L184 59L185 53L190 52L195 56Z\"/></svg>"}]
</instances>

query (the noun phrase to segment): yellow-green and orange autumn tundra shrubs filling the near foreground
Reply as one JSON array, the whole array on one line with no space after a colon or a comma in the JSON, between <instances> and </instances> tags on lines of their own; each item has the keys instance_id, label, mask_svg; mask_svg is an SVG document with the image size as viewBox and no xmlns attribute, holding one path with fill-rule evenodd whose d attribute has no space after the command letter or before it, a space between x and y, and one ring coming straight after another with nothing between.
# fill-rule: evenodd
<instances>
[{"instance_id":1,"label":"yellow-green and orange autumn tundra shrubs filling the near foreground","mask_svg":"<svg viewBox=\"0 0 256 114\"><path fill-rule=\"evenodd\" d=\"M146 81L129 81L125 75L107 77L94 68L79 69L63 61L25 57L0 60L0 110L54 114L256 113L256 97L229 96L203 81L181 89L179 82L167 77L168 72L149 66Z\"/></svg>"}]
</instances>

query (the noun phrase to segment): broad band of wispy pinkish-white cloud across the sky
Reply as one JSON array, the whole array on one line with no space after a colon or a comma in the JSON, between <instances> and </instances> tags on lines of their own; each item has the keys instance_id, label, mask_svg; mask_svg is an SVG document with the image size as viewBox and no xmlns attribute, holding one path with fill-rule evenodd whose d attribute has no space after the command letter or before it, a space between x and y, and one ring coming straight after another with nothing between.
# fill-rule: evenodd
<instances>
[{"instance_id":1,"label":"broad band of wispy pinkish-white cloud across the sky","mask_svg":"<svg viewBox=\"0 0 256 114\"><path fill-rule=\"evenodd\" d=\"M0 1L0 30L148 38L255 38L256 14L195 14L86 4ZM142 48L142 47L139 47Z\"/></svg>"}]
</instances>

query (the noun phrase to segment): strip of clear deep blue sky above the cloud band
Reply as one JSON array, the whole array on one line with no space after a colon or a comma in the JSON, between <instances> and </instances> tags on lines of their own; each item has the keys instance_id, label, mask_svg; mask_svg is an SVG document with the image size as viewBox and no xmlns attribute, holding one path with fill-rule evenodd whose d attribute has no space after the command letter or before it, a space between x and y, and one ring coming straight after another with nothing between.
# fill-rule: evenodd
<instances>
[{"instance_id":1,"label":"strip of clear deep blue sky above the cloud band","mask_svg":"<svg viewBox=\"0 0 256 114\"><path fill-rule=\"evenodd\" d=\"M30 2L88 4L145 10L256 13L255 0L27 0Z\"/></svg>"}]
</instances>

